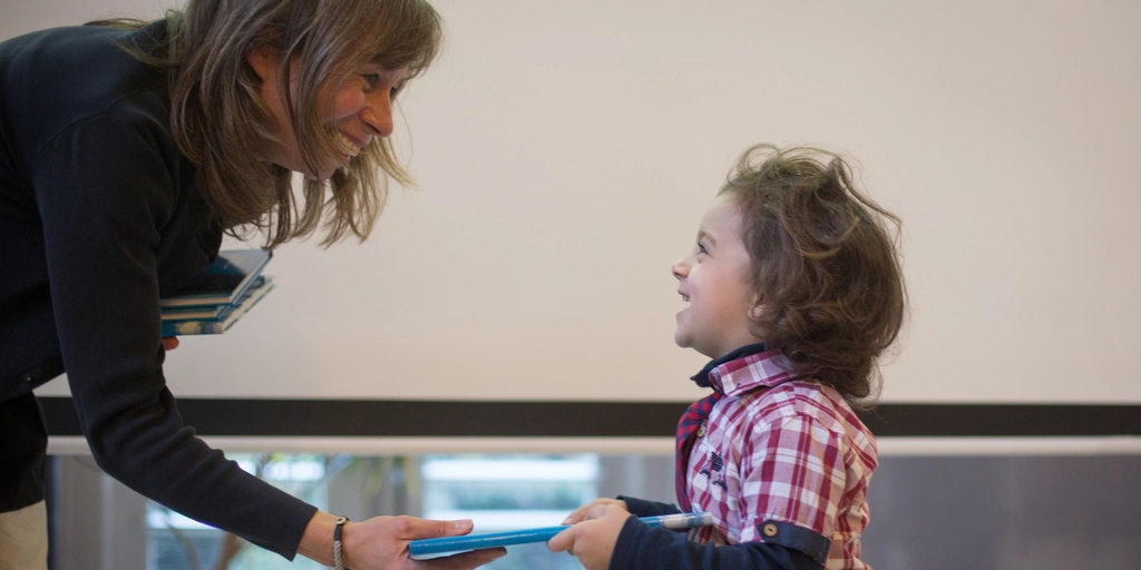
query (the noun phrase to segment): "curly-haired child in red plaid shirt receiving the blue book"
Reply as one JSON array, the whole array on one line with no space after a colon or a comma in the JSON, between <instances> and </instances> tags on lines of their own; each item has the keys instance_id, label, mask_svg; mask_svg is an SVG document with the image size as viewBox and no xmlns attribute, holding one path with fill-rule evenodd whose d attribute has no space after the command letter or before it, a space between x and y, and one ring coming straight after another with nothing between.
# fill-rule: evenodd
<instances>
[{"instance_id":1,"label":"curly-haired child in red plaid shirt receiving the blue book","mask_svg":"<svg viewBox=\"0 0 1141 570\"><path fill-rule=\"evenodd\" d=\"M598 499L550 549L589 570L868 568L876 450L852 406L875 396L906 295L899 219L851 178L827 153L753 147L673 266L674 341L713 359L693 380L714 391L678 425L678 504L714 526L687 537L630 516L673 505Z\"/></svg>"}]
</instances>

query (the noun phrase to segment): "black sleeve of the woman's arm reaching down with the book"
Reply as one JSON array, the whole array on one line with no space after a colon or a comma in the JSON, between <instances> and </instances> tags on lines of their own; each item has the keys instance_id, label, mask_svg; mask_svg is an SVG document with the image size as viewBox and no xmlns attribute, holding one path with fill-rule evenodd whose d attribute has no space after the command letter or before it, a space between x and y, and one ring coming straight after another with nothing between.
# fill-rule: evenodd
<instances>
[{"instance_id":1,"label":"black sleeve of the woman's arm reaching down with the book","mask_svg":"<svg viewBox=\"0 0 1141 570\"><path fill-rule=\"evenodd\" d=\"M167 389L155 251L179 188L177 149L156 142L164 129L90 119L37 155L33 186L72 398L108 474L292 560L316 507L208 447Z\"/></svg>"}]
</instances>

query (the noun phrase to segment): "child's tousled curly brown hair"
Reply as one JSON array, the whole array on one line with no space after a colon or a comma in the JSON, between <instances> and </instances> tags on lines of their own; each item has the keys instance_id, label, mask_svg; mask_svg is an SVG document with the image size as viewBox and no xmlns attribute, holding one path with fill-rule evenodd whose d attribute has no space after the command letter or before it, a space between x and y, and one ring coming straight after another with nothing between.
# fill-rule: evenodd
<instances>
[{"instance_id":1,"label":"child's tousled curly brown hair","mask_svg":"<svg viewBox=\"0 0 1141 570\"><path fill-rule=\"evenodd\" d=\"M856 188L839 155L809 147L750 148L720 194L742 212L754 334L791 369L871 407L876 361L906 314L899 218Z\"/></svg>"}]
</instances>

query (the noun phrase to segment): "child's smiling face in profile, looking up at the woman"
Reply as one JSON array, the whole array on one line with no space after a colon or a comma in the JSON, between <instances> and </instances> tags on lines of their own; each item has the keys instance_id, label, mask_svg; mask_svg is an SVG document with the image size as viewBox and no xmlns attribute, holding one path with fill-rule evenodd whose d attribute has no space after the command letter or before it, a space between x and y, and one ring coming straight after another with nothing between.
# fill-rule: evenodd
<instances>
[{"instance_id":1,"label":"child's smiling face in profile, looking up at the woman","mask_svg":"<svg viewBox=\"0 0 1141 570\"><path fill-rule=\"evenodd\" d=\"M718 196L702 218L694 250L673 263L678 293L689 302L673 333L679 347L720 358L760 342L750 327L758 299L741 231L741 209L731 197Z\"/></svg>"}]
</instances>

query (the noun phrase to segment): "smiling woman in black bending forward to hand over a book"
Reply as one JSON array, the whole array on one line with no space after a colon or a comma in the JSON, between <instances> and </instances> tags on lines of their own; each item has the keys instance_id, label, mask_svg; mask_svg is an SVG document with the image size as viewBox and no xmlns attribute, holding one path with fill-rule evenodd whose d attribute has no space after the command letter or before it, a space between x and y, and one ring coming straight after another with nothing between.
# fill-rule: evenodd
<instances>
[{"instance_id":1,"label":"smiling woman in black bending forward to hand over a book","mask_svg":"<svg viewBox=\"0 0 1141 570\"><path fill-rule=\"evenodd\" d=\"M0 569L44 567L32 389L64 370L99 465L187 516L324 564L335 529L338 562L357 570L502 555L407 560L408 539L470 521L337 529L195 438L162 374L177 340L160 339L159 298L205 268L224 231L258 228L269 246L318 226L325 244L369 235L377 169L407 180L385 139L393 98L439 38L420 0L191 0L145 25L0 43L0 536L25 534L0 544Z\"/></svg>"}]
</instances>

